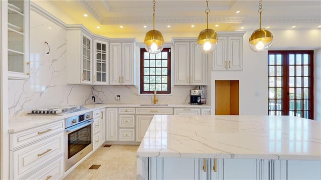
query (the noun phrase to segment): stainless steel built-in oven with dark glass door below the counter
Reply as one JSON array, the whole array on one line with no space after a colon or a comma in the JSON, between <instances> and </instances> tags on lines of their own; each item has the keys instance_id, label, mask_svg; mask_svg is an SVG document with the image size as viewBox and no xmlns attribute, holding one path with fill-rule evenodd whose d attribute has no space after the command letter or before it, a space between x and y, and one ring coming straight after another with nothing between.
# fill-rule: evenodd
<instances>
[{"instance_id":1,"label":"stainless steel built-in oven with dark glass door below the counter","mask_svg":"<svg viewBox=\"0 0 321 180\"><path fill-rule=\"evenodd\" d=\"M93 149L93 112L65 119L65 171Z\"/></svg>"}]
</instances>

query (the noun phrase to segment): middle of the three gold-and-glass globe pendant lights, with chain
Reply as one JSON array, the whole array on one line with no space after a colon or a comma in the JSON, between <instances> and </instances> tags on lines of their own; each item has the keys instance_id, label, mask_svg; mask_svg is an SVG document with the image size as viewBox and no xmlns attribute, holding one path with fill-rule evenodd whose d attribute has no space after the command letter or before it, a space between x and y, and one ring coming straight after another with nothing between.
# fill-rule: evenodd
<instances>
[{"instance_id":1,"label":"middle of the three gold-and-glass globe pendant lights, with chain","mask_svg":"<svg viewBox=\"0 0 321 180\"><path fill-rule=\"evenodd\" d=\"M217 34L213 29L209 29L209 0L206 0L206 24L207 28L200 32L199 37L197 38L197 47L201 52L209 53L213 52L213 50L217 46Z\"/></svg>"}]
</instances>

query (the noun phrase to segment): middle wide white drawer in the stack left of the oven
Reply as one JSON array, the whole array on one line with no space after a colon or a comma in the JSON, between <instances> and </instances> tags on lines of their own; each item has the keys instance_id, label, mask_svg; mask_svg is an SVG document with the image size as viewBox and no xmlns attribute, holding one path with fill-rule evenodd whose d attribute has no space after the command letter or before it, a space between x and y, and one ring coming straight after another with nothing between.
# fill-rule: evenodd
<instances>
[{"instance_id":1,"label":"middle wide white drawer in the stack left of the oven","mask_svg":"<svg viewBox=\"0 0 321 180\"><path fill-rule=\"evenodd\" d=\"M13 178L20 179L44 166L55 157L64 153L65 132L59 132L46 139L14 150L12 155Z\"/></svg>"}]
</instances>

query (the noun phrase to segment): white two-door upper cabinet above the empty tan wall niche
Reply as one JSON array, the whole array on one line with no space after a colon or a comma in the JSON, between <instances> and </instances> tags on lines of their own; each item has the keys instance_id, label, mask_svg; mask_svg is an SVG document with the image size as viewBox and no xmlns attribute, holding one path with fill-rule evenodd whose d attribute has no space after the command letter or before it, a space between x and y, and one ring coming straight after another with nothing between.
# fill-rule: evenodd
<instances>
[{"instance_id":1,"label":"white two-door upper cabinet above the empty tan wall niche","mask_svg":"<svg viewBox=\"0 0 321 180\"><path fill-rule=\"evenodd\" d=\"M243 69L243 35L244 32L218 33L217 47L209 54L213 70Z\"/></svg>"}]
</instances>

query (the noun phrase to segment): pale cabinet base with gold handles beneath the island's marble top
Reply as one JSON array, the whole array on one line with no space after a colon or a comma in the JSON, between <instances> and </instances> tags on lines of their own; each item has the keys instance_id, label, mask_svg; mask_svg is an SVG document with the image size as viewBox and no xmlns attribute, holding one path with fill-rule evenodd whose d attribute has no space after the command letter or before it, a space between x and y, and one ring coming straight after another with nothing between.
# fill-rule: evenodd
<instances>
[{"instance_id":1,"label":"pale cabinet base with gold handles beneath the island's marble top","mask_svg":"<svg viewBox=\"0 0 321 180\"><path fill-rule=\"evenodd\" d=\"M321 160L149 157L150 179L321 179Z\"/></svg>"}]
</instances>

